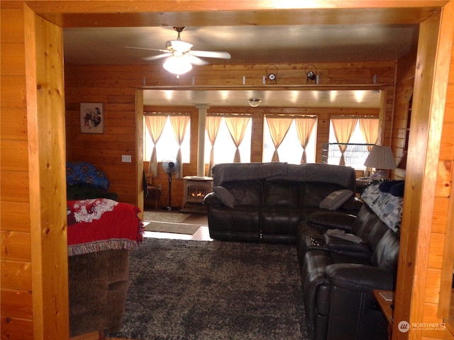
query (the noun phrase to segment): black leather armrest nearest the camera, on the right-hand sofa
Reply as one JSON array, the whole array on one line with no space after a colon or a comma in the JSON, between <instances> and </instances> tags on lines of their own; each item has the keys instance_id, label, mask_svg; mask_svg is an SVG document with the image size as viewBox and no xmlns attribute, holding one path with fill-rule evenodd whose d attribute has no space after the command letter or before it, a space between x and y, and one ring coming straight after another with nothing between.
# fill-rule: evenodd
<instances>
[{"instance_id":1,"label":"black leather armrest nearest the camera, on the right-hand sofa","mask_svg":"<svg viewBox=\"0 0 454 340\"><path fill-rule=\"evenodd\" d=\"M356 292L372 293L374 289L394 290L395 273L380 267L356 263L326 266L325 274L331 285Z\"/></svg>"}]
</instances>

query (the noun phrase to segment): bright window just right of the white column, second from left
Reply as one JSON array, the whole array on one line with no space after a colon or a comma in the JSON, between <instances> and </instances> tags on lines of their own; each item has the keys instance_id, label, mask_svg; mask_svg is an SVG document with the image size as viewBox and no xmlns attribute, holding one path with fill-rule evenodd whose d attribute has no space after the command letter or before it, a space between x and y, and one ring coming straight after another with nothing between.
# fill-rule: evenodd
<instances>
[{"instance_id":1,"label":"bright window just right of the white column, second from left","mask_svg":"<svg viewBox=\"0 0 454 340\"><path fill-rule=\"evenodd\" d=\"M210 117L210 116L209 116ZM209 119L207 117L207 119ZM223 116L219 123L219 130L216 135L216 141L214 142L214 164L220 163L233 163L236 153L236 146L233 142L231 133L228 130L226 123L226 118L233 120L233 123L236 119L239 118L250 118L247 115L241 115L238 117L235 116ZM252 122L251 119L248 119L248 123L245 126L245 134L243 141L241 142L238 150L240 152L240 162L248 163L250 162L250 144L251 144L251 133L252 133ZM211 153L211 143L209 140L208 132L205 132L205 164L209 164Z\"/></svg>"}]
</instances>

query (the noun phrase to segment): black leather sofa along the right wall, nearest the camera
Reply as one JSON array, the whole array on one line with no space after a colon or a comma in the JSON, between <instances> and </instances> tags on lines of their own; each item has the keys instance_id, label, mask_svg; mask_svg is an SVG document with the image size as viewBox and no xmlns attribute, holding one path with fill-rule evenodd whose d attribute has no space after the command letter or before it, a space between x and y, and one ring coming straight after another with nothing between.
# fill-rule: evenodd
<instances>
[{"instance_id":1,"label":"black leather sofa along the right wall, nearest the camera","mask_svg":"<svg viewBox=\"0 0 454 340\"><path fill-rule=\"evenodd\" d=\"M361 243L332 237L344 230ZM364 204L358 217L309 215L297 228L306 326L311 339L387 339L387 322L372 294L394 290L399 237Z\"/></svg>"}]
</instances>

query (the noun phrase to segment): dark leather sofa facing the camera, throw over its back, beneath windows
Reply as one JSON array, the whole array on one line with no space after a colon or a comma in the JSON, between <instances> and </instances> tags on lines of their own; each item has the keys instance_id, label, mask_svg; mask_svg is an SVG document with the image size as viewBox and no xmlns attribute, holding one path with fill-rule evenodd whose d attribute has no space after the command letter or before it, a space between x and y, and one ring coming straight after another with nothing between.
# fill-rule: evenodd
<instances>
[{"instance_id":1,"label":"dark leather sofa facing the camera, throw over its back, beneath windows","mask_svg":"<svg viewBox=\"0 0 454 340\"><path fill-rule=\"evenodd\" d=\"M204 198L210 236L240 242L294 243L297 226L330 193L355 191L355 170L330 164L218 164ZM222 202L223 189L229 201ZM230 203L230 204L229 204ZM230 206L228 206L230 205ZM356 213L351 198L340 210Z\"/></svg>"}]
</instances>

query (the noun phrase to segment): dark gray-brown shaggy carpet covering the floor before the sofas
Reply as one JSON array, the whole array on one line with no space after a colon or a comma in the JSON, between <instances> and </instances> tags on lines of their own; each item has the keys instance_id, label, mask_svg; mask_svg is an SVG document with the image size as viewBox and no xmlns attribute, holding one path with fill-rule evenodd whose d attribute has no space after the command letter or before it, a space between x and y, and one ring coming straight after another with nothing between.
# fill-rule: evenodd
<instances>
[{"instance_id":1,"label":"dark gray-brown shaggy carpet covering the floor before the sofas","mask_svg":"<svg viewBox=\"0 0 454 340\"><path fill-rule=\"evenodd\" d=\"M307 339L293 245L145 238L131 252L129 339Z\"/></svg>"}]
</instances>

